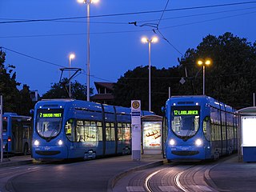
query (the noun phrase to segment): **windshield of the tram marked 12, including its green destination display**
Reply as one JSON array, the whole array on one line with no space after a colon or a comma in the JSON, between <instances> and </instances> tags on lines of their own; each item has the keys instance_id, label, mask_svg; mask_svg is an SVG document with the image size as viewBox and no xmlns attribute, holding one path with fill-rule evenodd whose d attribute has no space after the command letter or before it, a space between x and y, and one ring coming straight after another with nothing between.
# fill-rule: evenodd
<instances>
[{"instance_id":1,"label":"windshield of the tram marked 12, including its green destination display","mask_svg":"<svg viewBox=\"0 0 256 192\"><path fill-rule=\"evenodd\" d=\"M200 106L173 106L171 129L179 138L191 138L199 128Z\"/></svg>"}]
</instances>

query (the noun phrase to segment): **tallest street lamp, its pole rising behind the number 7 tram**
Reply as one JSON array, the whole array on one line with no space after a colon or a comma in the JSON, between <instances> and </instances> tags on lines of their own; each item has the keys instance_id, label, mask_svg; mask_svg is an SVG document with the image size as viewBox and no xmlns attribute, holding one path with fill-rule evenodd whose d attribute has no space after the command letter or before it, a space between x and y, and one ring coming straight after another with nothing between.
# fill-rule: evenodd
<instances>
[{"instance_id":1,"label":"tallest street lamp, its pole rising behind the number 7 tram","mask_svg":"<svg viewBox=\"0 0 256 192\"><path fill-rule=\"evenodd\" d=\"M87 4L87 101L90 102L90 4L98 0L77 0Z\"/></svg>"}]
</instances>

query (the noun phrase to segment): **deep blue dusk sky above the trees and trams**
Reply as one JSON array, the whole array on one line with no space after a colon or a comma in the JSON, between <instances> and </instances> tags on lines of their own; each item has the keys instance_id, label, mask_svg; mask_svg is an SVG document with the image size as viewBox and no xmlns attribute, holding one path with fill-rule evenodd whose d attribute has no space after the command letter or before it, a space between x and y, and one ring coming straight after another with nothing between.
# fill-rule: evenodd
<instances>
[{"instance_id":1,"label":"deep blue dusk sky above the trees and trams","mask_svg":"<svg viewBox=\"0 0 256 192\"><path fill-rule=\"evenodd\" d=\"M255 42L256 2L167 2L100 0L90 6L91 87L94 82L117 82L127 70L147 66L148 46L142 44L143 36L158 35L159 42L151 47L151 65L158 69L177 66L177 58L187 49L196 48L208 34L218 37L231 32ZM165 7L166 11L161 12ZM14 22L77 17L84 18ZM137 22L138 26L129 22ZM156 24L158 30L152 27ZM16 66L17 81L30 86L30 90L38 90L41 95L50 90L51 83L59 81L59 69L68 66L71 52L76 55L71 66L83 70L75 80L86 84L86 4L76 0L0 0L0 27L5 64Z\"/></svg>"}]
</instances>

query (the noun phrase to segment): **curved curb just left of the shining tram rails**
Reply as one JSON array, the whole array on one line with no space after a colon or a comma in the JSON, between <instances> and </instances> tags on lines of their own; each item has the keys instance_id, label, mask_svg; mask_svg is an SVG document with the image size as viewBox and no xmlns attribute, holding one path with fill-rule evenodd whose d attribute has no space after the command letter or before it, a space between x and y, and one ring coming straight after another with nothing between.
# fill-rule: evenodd
<instances>
[{"instance_id":1,"label":"curved curb just left of the shining tram rails","mask_svg":"<svg viewBox=\"0 0 256 192\"><path fill-rule=\"evenodd\" d=\"M165 160L161 160L161 161L157 161L157 162L150 162L146 165L137 166L137 167L131 168L130 170L123 171L120 174L114 175L114 177L109 179L109 182L107 184L107 192L112 192L114 185L118 182L118 180L125 177L127 174L134 173L135 171L138 171L138 170L146 170L147 168L152 168L154 166L162 166L165 162L166 162Z\"/></svg>"}]
</instances>

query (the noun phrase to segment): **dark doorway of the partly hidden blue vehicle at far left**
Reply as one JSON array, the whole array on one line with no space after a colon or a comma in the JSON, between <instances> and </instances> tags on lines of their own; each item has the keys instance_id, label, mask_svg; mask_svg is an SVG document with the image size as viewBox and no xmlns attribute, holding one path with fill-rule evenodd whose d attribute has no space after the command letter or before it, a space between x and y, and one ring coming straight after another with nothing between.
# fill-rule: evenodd
<instances>
[{"instance_id":1,"label":"dark doorway of the partly hidden blue vehicle at far left","mask_svg":"<svg viewBox=\"0 0 256 192\"><path fill-rule=\"evenodd\" d=\"M12 125L12 152L22 152L22 122L21 119L18 118L12 118L11 120Z\"/></svg>"}]
</instances>

